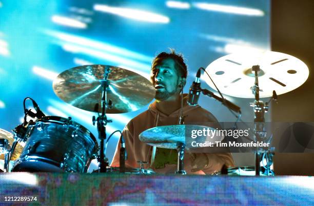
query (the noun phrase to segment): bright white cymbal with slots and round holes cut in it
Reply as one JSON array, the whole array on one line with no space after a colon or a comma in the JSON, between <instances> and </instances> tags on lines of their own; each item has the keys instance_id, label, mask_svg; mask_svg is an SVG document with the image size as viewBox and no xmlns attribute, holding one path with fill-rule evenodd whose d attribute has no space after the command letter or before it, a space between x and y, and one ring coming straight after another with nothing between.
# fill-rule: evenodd
<instances>
[{"instance_id":1,"label":"bright white cymbal with slots and round holes cut in it","mask_svg":"<svg viewBox=\"0 0 314 206\"><path fill-rule=\"evenodd\" d=\"M206 71L223 94L242 98L254 98L252 66L259 65L260 97L272 96L272 91L284 94L300 87L307 79L309 71L300 59L273 51L229 54L214 60ZM209 77L206 83L214 90Z\"/></svg>"}]
</instances>

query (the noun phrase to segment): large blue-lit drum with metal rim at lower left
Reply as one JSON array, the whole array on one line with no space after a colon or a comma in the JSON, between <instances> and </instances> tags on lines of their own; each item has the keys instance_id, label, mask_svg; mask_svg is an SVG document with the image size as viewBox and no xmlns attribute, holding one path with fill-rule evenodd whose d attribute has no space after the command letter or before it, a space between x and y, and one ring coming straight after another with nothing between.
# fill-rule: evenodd
<instances>
[{"instance_id":1,"label":"large blue-lit drum with metal rim at lower left","mask_svg":"<svg viewBox=\"0 0 314 206\"><path fill-rule=\"evenodd\" d=\"M98 149L94 135L70 117L43 117L24 139L12 172L87 172Z\"/></svg>"}]
</instances>

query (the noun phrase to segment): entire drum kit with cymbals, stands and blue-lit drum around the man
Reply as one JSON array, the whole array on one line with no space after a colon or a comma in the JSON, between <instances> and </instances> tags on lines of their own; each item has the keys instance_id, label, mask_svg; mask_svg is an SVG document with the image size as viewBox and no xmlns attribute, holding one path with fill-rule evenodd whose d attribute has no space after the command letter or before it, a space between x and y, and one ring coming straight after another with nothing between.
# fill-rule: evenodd
<instances>
[{"instance_id":1,"label":"entire drum kit with cymbals, stands and blue-lit drum around the man","mask_svg":"<svg viewBox=\"0 0 314 206\"><path fill-rule=\"evenodd\" d=\"M266 135L264 113L268 110L268 102L264 103L260 98L272 96L272 99L277 99L277 94L301 86L309 74L307 66L300 59L271 51L226 55L213 61L204 71L208 74L205 76L206 83L220 94L254 98L251 106L254 108L255 141L264 139ZM210 76L215 79L216 85ZM220 100L228 109L240 111L222 95L219 97L206 89L199 89L203 94ZM4 172L86 173L91 160L97 158L99 170L94 172L154 173L144 169L143 164L147 162L139 162L138 169L125 168L123 136L120 142L120 168L109 167L104 152L106 125L112 122L107 119L106 114L136 111L148 105L155 93L148 79L119 67L86 65L59 74L53 81L53 90L68 104L97 114L93 116L92 122L97 126L100 141L97 142L88 129L73 121L71 117L45 116L36 102L27 97L24 100L24 123L12 130L13 133L0 129L0 159L5 162ZM32 100L36 113L25 109L27 99ZM34 121L26 121L27 116L32 117ZM142 132L139 138L154 147L178 149L176 173L186 174L183 160L185 148L188 146L185 142L183 116L180 123L148 129ZM260 175L261 157L271 158L268 154L271 154L269 148L257 150L256 167L250 167L250 171ZM10 161L14 161L12 169L9 169ZM269 168L267 174L270 174L268 170ZM232 168L230 171L235 174L240 168Z\"/></svg>"}]
</instances>

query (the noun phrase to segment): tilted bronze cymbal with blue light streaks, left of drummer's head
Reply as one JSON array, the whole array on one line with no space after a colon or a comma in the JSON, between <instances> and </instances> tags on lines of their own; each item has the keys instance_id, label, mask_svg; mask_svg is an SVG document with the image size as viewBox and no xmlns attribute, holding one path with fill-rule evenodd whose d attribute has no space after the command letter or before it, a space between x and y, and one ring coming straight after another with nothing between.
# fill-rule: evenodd
<instances>
[{"instance_id":1,"label":"tilted bronze cymbal with blue light streaks, left of drummer's head","mask_svg":"<svg viewBox=\"0 0 314 206\"><path fill-rule=\"evenodd\" d=\"M148 79L135 72L106 65L86 65L62 72L53 81L54 93L74 107L94 112L95 104L101 105L102 82L107 69L110 70L107 101L112 101L112 108L107 109L107 113L136 111L154 98L155 90Z\"/></svg>"}]
</instances>

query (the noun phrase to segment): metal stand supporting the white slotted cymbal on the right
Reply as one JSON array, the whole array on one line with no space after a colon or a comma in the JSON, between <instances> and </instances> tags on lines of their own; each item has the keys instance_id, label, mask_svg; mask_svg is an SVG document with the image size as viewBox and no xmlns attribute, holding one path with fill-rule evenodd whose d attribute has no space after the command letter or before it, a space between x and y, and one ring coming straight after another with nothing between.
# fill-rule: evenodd
<instances>
[{"instance_id":1,"label":"metal stand supporting the white slotted cymbal on the right","mask_svg":"<svg viewBox=\"0 0 314 206\"><path fill-rule=\"evenodd\" d=\"M254 72L255 77L255 83L252 87L252 93L255 95L255 100L253 103L251 103L251 106L254 107L254 132L255 132L255 141L263 141L266 139L267 132L265 131L265 118L264 114L265 112L268 112L268 102L264 104L263 101L260 100L260 91L262 91L259 87L259 77L258 73L260 71L260 66L255 65L252 67L252 71ZM276 92L273 91L273 99L275 99ZM276 95L277 97L277 95ZM265 150L264 148L259 148L258 151L255 152L255 175L259 176L261 172L261 159L266 155L266 171L267 175L269 175L270 172L270 165L268 164L268 155L270 155L270 159L272 159L272 153L269 153L267 155L267 152L269 152L269 149Z\"/></svg>"}]
</instances>

